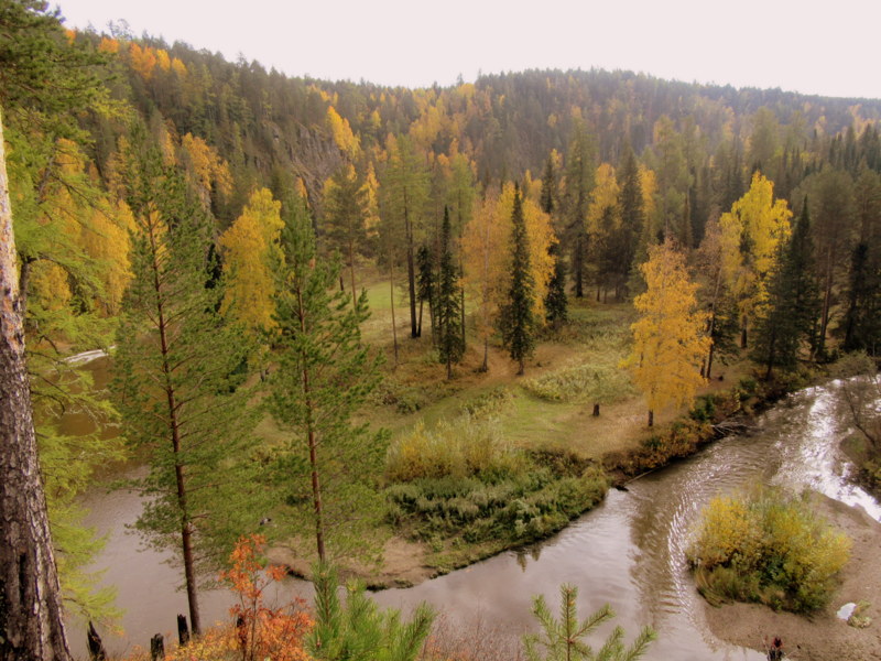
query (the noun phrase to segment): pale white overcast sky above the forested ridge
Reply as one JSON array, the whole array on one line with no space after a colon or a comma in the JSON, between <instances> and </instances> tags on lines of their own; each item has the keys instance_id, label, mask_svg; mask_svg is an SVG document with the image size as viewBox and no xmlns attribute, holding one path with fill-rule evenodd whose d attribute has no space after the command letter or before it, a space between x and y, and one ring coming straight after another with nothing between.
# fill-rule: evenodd
<instances>
[{"instance_id":1,"label":"pale white overcast sky above the forested ridge","mask_svg":"<svg viewBox=\"0 0 881 661\"><path fill-rule=\"evenodd\" d=\"M68 26L239 54L293 76L450 85L525 68L881 98L881 0L53 0Z\"/></svg>"}]
</instances>

